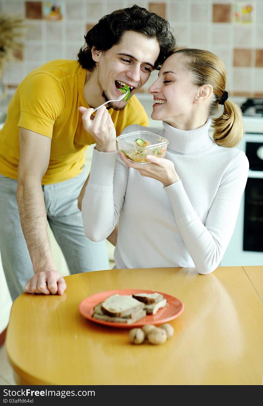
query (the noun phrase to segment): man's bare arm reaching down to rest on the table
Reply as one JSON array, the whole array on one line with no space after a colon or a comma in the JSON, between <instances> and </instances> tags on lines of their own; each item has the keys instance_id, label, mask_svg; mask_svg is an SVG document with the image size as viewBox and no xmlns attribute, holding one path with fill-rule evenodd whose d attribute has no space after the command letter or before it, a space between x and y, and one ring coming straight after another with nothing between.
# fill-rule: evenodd
<instances>
[{"instance_id":1,"label":"man's bare arm reaching down to rest on the table","mask_svg":"<svg viewBox=\"0 0 263 406\"><path fill-rule=\"evenodd\" d=\"M20 128L17 204L33 264L28 293L63 294L66 284L56 271L47 236L47 215L41 187L50 159L51 138Z\"/></svg>"}]
</instances>

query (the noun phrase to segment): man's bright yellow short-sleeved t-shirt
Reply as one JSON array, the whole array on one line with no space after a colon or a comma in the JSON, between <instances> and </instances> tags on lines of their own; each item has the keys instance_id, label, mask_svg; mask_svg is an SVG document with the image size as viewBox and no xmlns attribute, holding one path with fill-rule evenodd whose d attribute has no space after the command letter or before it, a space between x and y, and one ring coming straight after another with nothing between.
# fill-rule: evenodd
<instances>
[{"instance_id":1,"label":"man's bright yellow short-sleeved t-shirt","mask_svg":"<svg viewBox=\"0 0 263 406\"><path fill-rule=\"evenodd\" d=\"M78 107L84 98L86 69L75 60L54 60L34 69L19 84L0 130L0 173L17 179L19 127L52 138L50 162L42 184L62 182L82 172L85 150L95 140L84 130ZM148 125L136 96L122 111L109 110L117 136L130 124Z\"/></svg>"}]
</instances>

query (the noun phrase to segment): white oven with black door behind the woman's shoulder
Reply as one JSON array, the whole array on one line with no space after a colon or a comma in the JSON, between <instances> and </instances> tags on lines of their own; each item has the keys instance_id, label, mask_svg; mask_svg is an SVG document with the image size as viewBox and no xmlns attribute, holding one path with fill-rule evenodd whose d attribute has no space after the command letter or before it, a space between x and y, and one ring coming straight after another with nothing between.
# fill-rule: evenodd
<instances>
[{"instance_id":1,"label":"white oven with black door behind the woman's shoulder","mask_svg":"<svg viewBox=\"0 0 263 406\"><path fill-rule=\"evenodd\" d=\"M249 161L236 227L220 266L263 265L263 117L244 116L239 144Z\"/></svg>"}]
</instances>

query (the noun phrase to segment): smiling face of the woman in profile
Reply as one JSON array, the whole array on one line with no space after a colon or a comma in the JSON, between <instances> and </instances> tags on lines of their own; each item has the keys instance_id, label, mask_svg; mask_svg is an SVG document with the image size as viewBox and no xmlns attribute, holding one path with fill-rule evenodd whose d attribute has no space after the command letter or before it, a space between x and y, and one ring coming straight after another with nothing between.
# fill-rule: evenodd
<instances>
[{"instance_id":1,"label":"smiling face of the woman in profile","mask_svg":"<svg viewBox=\"0 0 263 406\"><path fill-rule=\"evenodd\" d=\"M198 87L193 84L193 76L183 66L185 56L175 53L167 58L160 69L158 79L150 86L153 95L153 120L173 123L174 119L185 120L191 117Z\"/></svg>"}]
</instances>

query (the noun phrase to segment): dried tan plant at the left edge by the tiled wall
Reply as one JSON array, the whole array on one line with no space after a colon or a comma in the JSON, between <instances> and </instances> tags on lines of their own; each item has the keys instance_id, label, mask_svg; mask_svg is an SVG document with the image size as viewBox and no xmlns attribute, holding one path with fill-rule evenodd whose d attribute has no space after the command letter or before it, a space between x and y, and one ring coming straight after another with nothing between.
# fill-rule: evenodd
<instances>
[{"instance_id":1,"label":"dried tan plant at the left edge by the tiled wall","mask_svg":"<svg viewBox=\"0 0 263 406\"><path fill-rule=\"evenodd\" d=\"M25 35L25 22L21 17L0 15L0 72L5 61L14 58L14 52L21 50L21 37Z\"/></svg>"}]
</instances>

